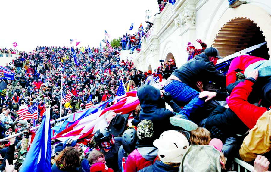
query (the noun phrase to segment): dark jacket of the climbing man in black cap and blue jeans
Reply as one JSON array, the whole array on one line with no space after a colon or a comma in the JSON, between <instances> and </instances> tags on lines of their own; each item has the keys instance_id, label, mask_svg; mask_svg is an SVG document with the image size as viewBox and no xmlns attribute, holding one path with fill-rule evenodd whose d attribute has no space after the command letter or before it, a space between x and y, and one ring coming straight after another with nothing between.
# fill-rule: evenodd
<instances>
[{"instance_id":1,"label":"dark jacket of the climbing man in black cap and blue jeans","mask_svg":"<svg viewBox=\"0 0 271 172\"><path fill-rule=\"evenodd\" d=\"M205 53L196 55L195 58L183 64L179 69L175 69L172 75L195 90L198 90L197 81L206 85L211 80L219 86L226 86L226 77L216 70L213 62L209 60Z\"/></svg>"}]
</instances>

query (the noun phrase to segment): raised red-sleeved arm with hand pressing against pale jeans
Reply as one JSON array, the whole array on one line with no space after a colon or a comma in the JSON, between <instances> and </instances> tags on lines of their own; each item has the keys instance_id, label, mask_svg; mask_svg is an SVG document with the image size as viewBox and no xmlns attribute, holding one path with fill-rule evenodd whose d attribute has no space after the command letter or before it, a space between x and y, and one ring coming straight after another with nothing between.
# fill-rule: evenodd
<instances>
[{"instance_id":1,"label":"raised red-sleeved arm with hand pressing against pale jeans","mask_svg":"<svg viewBox=\"0 0 271 172\"><path fill-rule=\"evenodd\" d=\"M262 114L269 110L269 108L258 107L247 101L248 96L252 91L252 86L256 83L257 78L258 70L249 72L245 82L240 82L234 87L229 100L227 101L229 108L249 129L252 129Z\"/></svg>"}]
</instances>

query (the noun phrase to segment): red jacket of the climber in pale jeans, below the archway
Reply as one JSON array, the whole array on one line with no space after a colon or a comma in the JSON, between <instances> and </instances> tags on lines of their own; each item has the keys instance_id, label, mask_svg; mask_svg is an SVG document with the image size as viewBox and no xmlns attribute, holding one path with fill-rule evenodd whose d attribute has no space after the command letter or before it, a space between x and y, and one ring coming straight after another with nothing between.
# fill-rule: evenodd
<instances>
[{"instance_id":1,"label":"red jacket of the climber in pale jeans, below the archway","mask_svg":"<svg viewBox=\"0 0 271 172\"><path fill-rule=\"evenodd\" d=\"M239 57L235 57L230 66L228 73L226 75L226 86L231 83L235 83L236 81L236 73L241 72L244 74L245 69L250 65L258 61L266 60L261 57L255 57L251 55L241 55Z\"/></svg>"}]
</instances>

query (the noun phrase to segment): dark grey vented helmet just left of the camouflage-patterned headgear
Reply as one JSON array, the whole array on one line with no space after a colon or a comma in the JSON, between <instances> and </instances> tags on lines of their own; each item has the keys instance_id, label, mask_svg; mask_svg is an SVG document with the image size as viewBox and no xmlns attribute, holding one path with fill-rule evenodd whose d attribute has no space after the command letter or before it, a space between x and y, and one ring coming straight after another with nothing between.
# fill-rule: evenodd
<instances>
[{"instance_id":1,"label":"dark grey vented helmet just left of the camouflage-patterned headgear","mask_svg":"<svg viewBox=\"0 0 271 172\"><path fill-rule=\"evenodd\" d=\"M136 149L136 130L135 129L128 129L125 130L122 135L122 146L125 152L132 153L133 150Z\"/></svg>"}]
</instances>

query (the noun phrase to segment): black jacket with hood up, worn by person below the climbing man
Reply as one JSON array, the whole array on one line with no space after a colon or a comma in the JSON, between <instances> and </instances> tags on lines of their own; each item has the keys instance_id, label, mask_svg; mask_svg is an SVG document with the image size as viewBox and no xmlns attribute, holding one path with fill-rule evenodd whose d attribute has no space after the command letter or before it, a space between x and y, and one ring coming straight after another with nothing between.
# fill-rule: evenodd
<instances>
[{"instance_id":1,"label":"black jacket with hood up, worn by person below the climbing man","mask_svg":"<svg viewBox=\"0 0 271 172\"><path fill-rule=\"evenodd\" d=\"M161 98L157 88L151 85L142 86L137 90L137 96L141 109L139 120L134 121L133 124L137 125L144 119L151 120L154 131L153 139L158 139L164 131L176 129L169 120L176 113L166 109L165 101Z\"/></svg>"}]
</instances>

